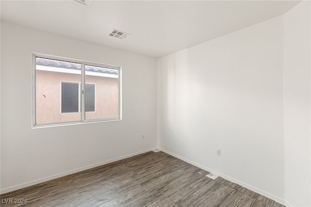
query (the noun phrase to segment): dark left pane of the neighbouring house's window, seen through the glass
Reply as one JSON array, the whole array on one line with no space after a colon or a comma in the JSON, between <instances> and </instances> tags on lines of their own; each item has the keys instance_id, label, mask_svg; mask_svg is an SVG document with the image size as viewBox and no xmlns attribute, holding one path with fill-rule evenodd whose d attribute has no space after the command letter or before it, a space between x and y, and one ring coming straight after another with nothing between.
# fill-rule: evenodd
<instances>
[{"instance_id":1,"label":"dark left pane of the neighbouring house's window, seen through the glass","mask_svg":"<svg viewBox=\"0 0 311 207\"><path fill-rule=\"evenodd\" d=\"M79 112L79 84L62 83L62 113Z\"/></svg>"}]
</instances>

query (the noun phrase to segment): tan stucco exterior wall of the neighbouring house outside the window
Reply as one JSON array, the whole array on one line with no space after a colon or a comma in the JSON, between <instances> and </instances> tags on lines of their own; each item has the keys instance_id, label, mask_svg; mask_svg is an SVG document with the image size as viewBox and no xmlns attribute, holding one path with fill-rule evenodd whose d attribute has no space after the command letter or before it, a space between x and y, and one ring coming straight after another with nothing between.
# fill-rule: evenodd
<instances>
[{"instance_id":1,"label":"tan stucco exterior wall of the neighbouring house outside the window","mask_svg":"<svg viewBox=\"0 0 311 207\"><path fill-rule=\"evenodd\" d=\"M81 121L81 112L61 113L61 82L81 83L81 75L36 70L36 124ZM118 117L118 79L86 75L86 83L95 84L95 112L86 120Z\"/></svg>"}]
</instances>

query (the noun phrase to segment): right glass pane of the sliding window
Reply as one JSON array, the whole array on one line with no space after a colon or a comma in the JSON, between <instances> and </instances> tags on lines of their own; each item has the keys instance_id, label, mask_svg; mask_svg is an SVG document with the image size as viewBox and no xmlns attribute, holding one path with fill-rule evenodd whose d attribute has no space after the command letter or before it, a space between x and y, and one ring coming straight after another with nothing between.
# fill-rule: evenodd
<instances>
[{"instance_id":1,"label":"right glass pane of the sliding window","mask_svg":"<svg viewBox=\"0 0 311 207\"><path fill-rule=\"evenodd\" d=\"M86 65L85 81L95 84L94 113L86 113L86 120L119 117L119 70ZM87 103L87 101L86 101Z\"/></svg>"}]
</instances>

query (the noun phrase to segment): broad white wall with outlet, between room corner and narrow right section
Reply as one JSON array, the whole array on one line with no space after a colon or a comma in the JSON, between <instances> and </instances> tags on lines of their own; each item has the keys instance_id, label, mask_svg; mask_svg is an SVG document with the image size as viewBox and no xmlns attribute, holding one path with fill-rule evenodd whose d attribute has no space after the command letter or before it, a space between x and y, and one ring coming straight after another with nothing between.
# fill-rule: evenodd
<instances>
[{"instance_id":1,"label":"broad white wall with outlet, between room corner and narrow right section","mask_svg":"<svg viewBox=\"0 0 311 207\"><path fill-rule=\"evenodd\" d=\"M282 53L276 17L158 59L158 148L284 203Z\"/></svg>"}]
</instances>

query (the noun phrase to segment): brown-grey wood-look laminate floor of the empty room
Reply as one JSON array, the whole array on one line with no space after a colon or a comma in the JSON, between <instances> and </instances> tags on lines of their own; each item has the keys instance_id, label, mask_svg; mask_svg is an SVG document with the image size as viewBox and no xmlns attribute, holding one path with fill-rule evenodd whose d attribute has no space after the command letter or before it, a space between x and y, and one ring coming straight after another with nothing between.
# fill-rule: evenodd
<instances>
[{"instance_id":1,"label":"brown-grey wood-look laminate floor of the empty room","mask_svg":"<svg viewBox=\"0 0 311 207\"><path fill-rule=\"evenodd\" d=\"M2 194L1 207L282 207L207 174L163 152L148 152Z\"/></svg>"}]
</instances>

